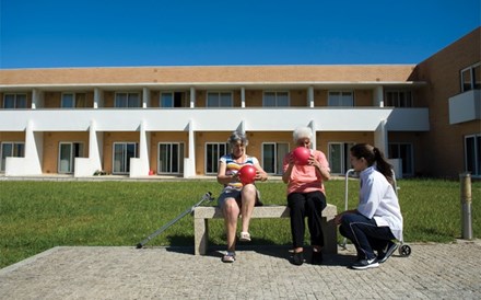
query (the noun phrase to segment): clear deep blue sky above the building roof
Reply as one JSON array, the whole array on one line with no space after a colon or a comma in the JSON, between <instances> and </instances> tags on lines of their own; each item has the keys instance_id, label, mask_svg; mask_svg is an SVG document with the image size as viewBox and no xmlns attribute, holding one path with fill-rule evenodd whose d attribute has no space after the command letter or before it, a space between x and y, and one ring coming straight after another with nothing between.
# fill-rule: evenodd
<instances>
[{"instance_id":1,"label":"clear deep blue sky above the building roof","mask_svg":"<svg viewBox=\"0 0 481 300\"><path fill-rule=\"evenodd\" d=\"M0 0L0 68L417 64L480 0Z\"/></svg>"}]
</instances>

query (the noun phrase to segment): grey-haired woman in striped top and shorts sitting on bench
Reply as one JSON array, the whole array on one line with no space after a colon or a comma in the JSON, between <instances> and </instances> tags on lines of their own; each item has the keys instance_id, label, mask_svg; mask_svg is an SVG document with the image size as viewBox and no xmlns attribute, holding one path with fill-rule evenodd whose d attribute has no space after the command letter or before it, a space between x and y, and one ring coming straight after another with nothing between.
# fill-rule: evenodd
<instances>
[{"instance_id":1,"label":"grey-haired woman in striped top and shorts sitting on bench","mask_svg":"<svg viewBox=\"0 0 481 300\"><path fill-rule=\"evenodd\" d=\"M224 186L219 196L219 207L224 214L224 224L227 235L227 252L222 257L224 263L235 261L235 242L237 219L242 215L242 231L239 241L250 241L249 222L254 206L260 204L259 192L255 183L243 184L237 172L247 164L256 168L255 181L266 181L267 173L255 157L246 153L248 140L243 132L234 131L227 140L231 153L220 159L218 182Z\"/></svg>"}]
</instances>

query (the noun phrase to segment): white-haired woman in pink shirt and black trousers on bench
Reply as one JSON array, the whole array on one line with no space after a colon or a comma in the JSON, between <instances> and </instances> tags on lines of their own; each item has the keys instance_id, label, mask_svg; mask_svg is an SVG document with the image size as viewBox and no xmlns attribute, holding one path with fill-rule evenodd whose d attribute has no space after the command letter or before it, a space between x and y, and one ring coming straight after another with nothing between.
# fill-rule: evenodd
<instances>
[{"instance_id":1,"label":"white-haired woman in pink shirt and black trousers on bench","mask_svg":"<svg viewBox=\"0 0 481 300\"><path fill-rule=\"evenodd\" d=\"M324 233L320 227L321 214L326 208L324 182L330 178L329 163L326 155L310 149L313 131L309 127L294 130L294 142L297 147L310 150L307 164L296 163L294 151L288 153L283 162L282 181L288 184L288 206L291 210L291 232L294 247L292 263L304 263L305 217L310 233L312 264L321 264Z\"/></svg>"}]
</instances>

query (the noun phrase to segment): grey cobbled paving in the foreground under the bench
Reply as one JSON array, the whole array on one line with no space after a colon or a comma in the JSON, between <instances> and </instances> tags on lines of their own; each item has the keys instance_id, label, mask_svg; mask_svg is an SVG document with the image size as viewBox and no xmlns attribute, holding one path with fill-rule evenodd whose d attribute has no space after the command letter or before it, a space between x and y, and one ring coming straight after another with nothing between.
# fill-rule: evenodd
<instances>
[{"instance_id":1,"label":"grey cobbled paving in the foreground under the bench","mask_svg":"<svg viewBox=\"0 0 481 300\"><path fill-rule=\"evenodd\" d=\"M481 299L481 241L410 244L352 270L353 249L294 266L283 246L250 246L233 264L189 247L55 247L0 269L0 299Z\"/></svg>"}]
</instances>

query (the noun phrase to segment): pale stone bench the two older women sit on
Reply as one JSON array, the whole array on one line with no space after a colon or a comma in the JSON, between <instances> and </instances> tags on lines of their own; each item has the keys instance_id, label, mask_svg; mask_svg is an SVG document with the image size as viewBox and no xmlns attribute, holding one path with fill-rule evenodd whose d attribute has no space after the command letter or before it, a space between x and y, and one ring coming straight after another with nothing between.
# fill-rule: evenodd
<instances>
[{"instance_id":1,"label":"pale stone bench the two older women sit on","mask_svg":"<svg viewBox=\"0 0 481 300\"><path fill-rule=\"evenodd\" d=\"M325 253L338 253L338 231L333 222L338 208L328 204L322 210L322 232L325 239ZM204 255L209 246L209 219L222 219L222 211L219 207L198 206L193 210L193 240L195 254ZM256 206L251 219L259 218L289 218L289 207L278 205ZM306 226L306 230L307 226Z\"/></svg>"}]
</instances>

